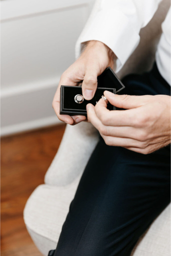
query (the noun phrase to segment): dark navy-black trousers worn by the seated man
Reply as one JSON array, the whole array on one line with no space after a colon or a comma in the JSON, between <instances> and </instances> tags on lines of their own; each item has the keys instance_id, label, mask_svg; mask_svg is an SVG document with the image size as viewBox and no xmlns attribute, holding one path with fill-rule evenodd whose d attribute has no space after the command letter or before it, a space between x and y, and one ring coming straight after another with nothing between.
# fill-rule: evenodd
<instances>
[{"instance_id":1,"label":"dark navy-black trousers worn by the seated man","mask_svg":"<svg viewBox=\"0 0 171 256\"><path fill-rule=\"evenodd\" d=\"M170 94L156 65L123 79L124 94ZM55 256L128 256L170 202L170 146L151 154L100 137L80 179Z\"/></svg>"}]
</instances>

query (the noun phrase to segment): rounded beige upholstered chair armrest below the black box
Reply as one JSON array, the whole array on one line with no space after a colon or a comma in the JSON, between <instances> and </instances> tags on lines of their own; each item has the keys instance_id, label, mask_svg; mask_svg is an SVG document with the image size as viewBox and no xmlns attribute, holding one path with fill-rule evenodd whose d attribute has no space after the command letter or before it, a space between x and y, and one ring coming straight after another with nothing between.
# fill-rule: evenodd
<instances>
[{"instance_id":1,"label":"rounded beige upholstered chair armrest below the black box","mask_svg":"<svg viewBox=\"0 0 171 256\"><path fill-rule=\"evenodd\" d=\"M98 132L91 123L66 125L59 149L44 178L46 184L63 186L81 175L98 141Z\"/></svg>"}]
</instances>

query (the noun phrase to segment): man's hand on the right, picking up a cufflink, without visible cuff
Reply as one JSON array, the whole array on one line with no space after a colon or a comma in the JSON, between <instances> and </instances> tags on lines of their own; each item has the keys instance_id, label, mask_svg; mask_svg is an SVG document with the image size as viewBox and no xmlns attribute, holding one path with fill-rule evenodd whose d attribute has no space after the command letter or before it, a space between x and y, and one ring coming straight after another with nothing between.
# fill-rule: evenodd
<instances>
[{"instance_id":1,"label":"man's hand on the right, picking up a cufflink, without visible cuff","mask_svg":"<svg viewBox=\"0 0 171 256\"><path fill-rule=\"evenodd\" d=\"M116 95L104 91L108 101L126 110L106 108L101 98L87 104L87 118L107 145L122 146L148 154L170 143L170 96Z\"/></svg>"}]
</instances>

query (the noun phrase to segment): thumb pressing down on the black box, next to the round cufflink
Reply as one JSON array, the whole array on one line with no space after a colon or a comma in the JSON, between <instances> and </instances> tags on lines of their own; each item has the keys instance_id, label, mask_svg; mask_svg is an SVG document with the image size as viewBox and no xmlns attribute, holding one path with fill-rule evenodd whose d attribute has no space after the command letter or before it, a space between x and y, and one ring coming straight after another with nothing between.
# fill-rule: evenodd
<instances>
[{"instance_id":1,"label":"thumb pressing down on the black box, next to the round cufflink","mask_svg":"<svg viewBox=\"0 0 171 256\"><path fill-rule=\"evenodd\" d=\"M97 71L87 70L82 82L82 95L86 100L93 98L97 88Z\"/></svg>"}]
</instances>

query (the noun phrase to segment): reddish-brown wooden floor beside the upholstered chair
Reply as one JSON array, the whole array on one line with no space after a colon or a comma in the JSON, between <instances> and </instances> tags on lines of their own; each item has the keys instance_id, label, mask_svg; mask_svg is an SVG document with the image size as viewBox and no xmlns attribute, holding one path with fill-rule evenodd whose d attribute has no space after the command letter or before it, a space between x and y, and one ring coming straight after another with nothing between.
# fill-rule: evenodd
<instances>
[{"instance_id":1,"label":"reddish-brown wooden floor beside the upholstered chair","mask_svg":"<svg viewBox=\"0 0 171 256\"><path fill-rule=\"evenodd\" d=\"M23 208L60 144L65 125L1 138L1 256L40 256L23 222Z\"/></svg>"}]
</instances>

